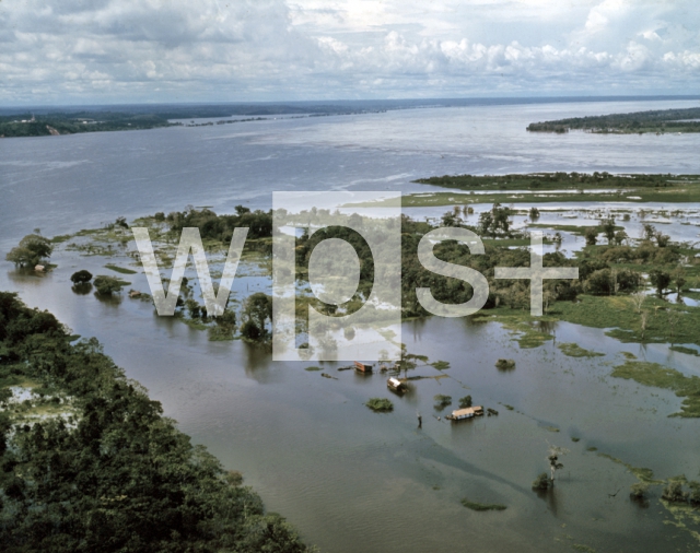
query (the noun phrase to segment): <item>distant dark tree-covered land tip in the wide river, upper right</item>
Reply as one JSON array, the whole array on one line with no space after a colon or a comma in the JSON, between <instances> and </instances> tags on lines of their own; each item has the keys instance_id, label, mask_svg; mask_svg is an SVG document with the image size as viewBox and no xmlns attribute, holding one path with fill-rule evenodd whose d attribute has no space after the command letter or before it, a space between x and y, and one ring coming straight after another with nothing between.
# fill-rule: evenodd
<instances>
[{"instance_id":1,"label":"distant dark tree-covered land tip in the wide river, upper right","mask_svg":"<svg viewBox=\"0 0 700 553\"><path fill-rule=\"evenodd\" d=\"M590 117L572 117L553 121L532 122L530 132L557 132L585 130L596 133L644 133L644 132L700 132L700 107L687 109L658 109L632 114L610 114Z\"/></svg>"}]
</instances>

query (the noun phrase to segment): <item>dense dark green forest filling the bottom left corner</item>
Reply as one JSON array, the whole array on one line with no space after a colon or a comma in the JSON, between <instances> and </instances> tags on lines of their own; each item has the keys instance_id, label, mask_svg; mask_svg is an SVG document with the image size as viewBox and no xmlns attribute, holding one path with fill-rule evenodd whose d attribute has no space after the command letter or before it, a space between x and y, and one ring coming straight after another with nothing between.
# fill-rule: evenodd
<instances>
[{"instance_id":1,"label":"dense dark green forest filling the bottom left corner","mask_svg":"<svg viewBox=\"0 0 700 553\"><path fill-rule=\"evenodd\" d=\"M308 551L95 339L2 292L0 407L3 552Z\"/></svg>"}]
</instances>

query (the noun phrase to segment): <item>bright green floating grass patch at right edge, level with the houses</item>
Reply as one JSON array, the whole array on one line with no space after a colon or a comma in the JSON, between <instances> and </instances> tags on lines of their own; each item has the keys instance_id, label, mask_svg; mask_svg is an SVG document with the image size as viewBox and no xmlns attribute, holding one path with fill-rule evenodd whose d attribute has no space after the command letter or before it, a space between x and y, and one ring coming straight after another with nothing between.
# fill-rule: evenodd
<instances>
[{"instance_id":1,"label":"bright green floating grass patch at right edge, level with the houses","mask_svg":"<svg viewBox=\"0 0 700 553\"><path fill-rule=\"evenodd\" d=\"M680 413L672 416L700 417L700 378L697 376L686 376L658 363L645 361L626 361L614 368L611 376L634 380L642 386L672 390L679 398L685 398Z\"/></svg>"}]
</instances>

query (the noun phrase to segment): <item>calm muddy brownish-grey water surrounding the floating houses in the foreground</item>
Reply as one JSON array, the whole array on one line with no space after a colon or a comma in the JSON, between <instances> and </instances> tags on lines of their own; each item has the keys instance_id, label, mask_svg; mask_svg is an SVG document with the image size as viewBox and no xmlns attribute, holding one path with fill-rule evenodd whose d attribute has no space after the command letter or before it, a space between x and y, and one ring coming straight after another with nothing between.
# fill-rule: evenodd
<instances>
[{"instance_id":1,"label":"calm muddy brownish-grey water surrounding the floating houses in the foreground","mask_svg":"<svg viewBox=\"0 0 700 553\"><path fill-rule=\"evenodd\" d=\"M385 374L324 363L335 378L323 378L304 370L312 363L272 362L241 341L210 342L206 332L158 317L150 303L74 294L71 259L91 271L105 262L66 254L67 262L43 278L5 272L4 287L21 290L74 332L96 336L194 442L242 470L269 509L324 551L451 551L465 542L499 552L553 552L562 543L661 551L669 540L692 543L664 525L669 515L656 498L649 508L630 502L637 480L625 467L587 448L658 478L695 478L700 426L667 416L679 399L609 374L622 351L688 375L700 374L697 357L666 345L620 344L565 322L548 325L552 340L524 350L498 322L433 317L405 322L401 339L408 351L451 368L409 372L424 378L401 397L387 389ZM128 279L145 290L142 274ZM605 355L568 357L557 348L567 342ZM515 369L497 369L499 357L513 358ZM435 409L438 393L451 396L453 407ZM499 415L445 421L466 395ZM394 411L373 413L363 404L371 397L390 398ZM553 493L540 497L530 483L547 469L549 444L571 452ZM508 509L471 511L464 497Z\"/></svg>"}]
</instances>

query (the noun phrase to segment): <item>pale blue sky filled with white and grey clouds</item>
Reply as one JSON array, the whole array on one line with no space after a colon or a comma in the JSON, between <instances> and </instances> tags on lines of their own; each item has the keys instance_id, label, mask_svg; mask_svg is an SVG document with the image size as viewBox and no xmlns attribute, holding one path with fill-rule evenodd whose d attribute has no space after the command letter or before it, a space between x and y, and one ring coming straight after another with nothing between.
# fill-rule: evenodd
<instances>
[{"instance_id":1,"label":"pale blue sky filled with white and grey clouds","mask_svg":"<svg viewBox=\"0 0 700 553\"><path fill-rule=\"evenodd\" d=\"M698 0L0 0L0 106L699 85Z\"/></svg>"}]
</instances>

